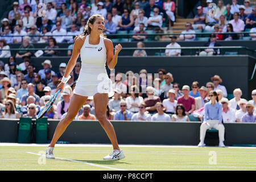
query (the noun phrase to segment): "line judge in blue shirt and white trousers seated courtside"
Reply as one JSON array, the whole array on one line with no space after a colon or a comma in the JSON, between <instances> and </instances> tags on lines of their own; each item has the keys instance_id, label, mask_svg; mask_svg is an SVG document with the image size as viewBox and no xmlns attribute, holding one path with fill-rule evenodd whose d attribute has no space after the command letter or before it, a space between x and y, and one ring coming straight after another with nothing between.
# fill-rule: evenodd
<instances>
[{"instance_id":1,"label":"line judge in blue shirt and white trousers seated courtside","mask_svg":"<svg viewBox=\"0 0 256 182\"><path fill-rule=\"evenodd\" d=\"M199 147L204 147L205 134L208 129L218 130L219 147L225 147L224 134L225 127L222 124L222 105L218 102L218 96L215 91L209 92L210 101L204 106L204 120L200 126L200 143Z\"/></svg>"}]
</instances>

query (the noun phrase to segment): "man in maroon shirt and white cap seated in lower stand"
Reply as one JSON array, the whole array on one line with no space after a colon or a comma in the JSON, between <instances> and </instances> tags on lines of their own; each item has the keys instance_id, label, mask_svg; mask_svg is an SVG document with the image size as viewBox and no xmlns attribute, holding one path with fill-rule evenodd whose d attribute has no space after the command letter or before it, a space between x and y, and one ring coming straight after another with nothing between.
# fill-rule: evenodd
<instances>
[{"instance_id":1,"label":"man in maroon shirt and white cap seated in lower stand","mask_svg":"<svg viewBox=\"0 0 256 182\"><path fill-rule=\"evenodd\" d=\"M195 98L189 96L190 88L188 85L184 85L181 90L184 95L177 98L177 104L183 104L185 107L185 114L191 114L196 107Z\"/></svg>"}]
</instances>

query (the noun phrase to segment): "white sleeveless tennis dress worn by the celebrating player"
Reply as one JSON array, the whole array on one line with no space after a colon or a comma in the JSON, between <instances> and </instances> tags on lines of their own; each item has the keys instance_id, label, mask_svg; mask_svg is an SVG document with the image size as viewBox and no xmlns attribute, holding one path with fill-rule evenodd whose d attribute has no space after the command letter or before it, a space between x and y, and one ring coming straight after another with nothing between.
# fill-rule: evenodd
<instances>
[{"instance_id":1,"label":"white sleeveless tennis dress worn by the celebrating player","mask_svg":"<svg viewBox=\"0 0 256 182\"><path fill-rule=\"evenodd\" d=\"M106 72L106 48L104 38L100 36L100 43L89 44L87 35L80 50L82 67L73 93L80 96L92 97L96 93L114 95L112 81Z\"/></svg>"}]
</instances>

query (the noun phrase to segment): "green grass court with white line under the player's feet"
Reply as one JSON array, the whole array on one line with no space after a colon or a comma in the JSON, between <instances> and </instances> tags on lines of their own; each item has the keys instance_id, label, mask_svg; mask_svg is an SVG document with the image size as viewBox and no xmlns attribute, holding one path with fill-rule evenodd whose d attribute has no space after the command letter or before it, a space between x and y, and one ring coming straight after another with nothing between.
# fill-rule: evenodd
<instances>
[{"instance_id":1,"label":"green grass court with white line under the player's feet","mask_svg":"<svg viewBox=\"0 0 256 182\"><path fill-rule=\"evenodd\" d=\"M121 145L126 158L106 161L109 146L56 145L57 159L45 160L47 145L0 146L0 171L5 170L255 170L255 147L189 147Z\"/></svg>"}]
</instances>

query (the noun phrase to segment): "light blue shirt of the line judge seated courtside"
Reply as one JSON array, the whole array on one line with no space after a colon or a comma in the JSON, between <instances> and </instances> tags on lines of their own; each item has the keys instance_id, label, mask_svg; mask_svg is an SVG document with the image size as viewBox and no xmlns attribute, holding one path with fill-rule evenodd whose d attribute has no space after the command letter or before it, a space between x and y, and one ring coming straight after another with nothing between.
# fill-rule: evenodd
<instances>
[{"instance_id":1,"label":"light blue shirt of the line judge seated courtside","mask_svg":"<svg viewBox=\"0 0 256 182\"><path fill-rule=\"evenodd\" d=\"M222 105L219 102L215 102L212 105L212 101L204 105L204 121L209 119L217 119L219 123L222 122Z\"/></svg>"}]
</instances>

